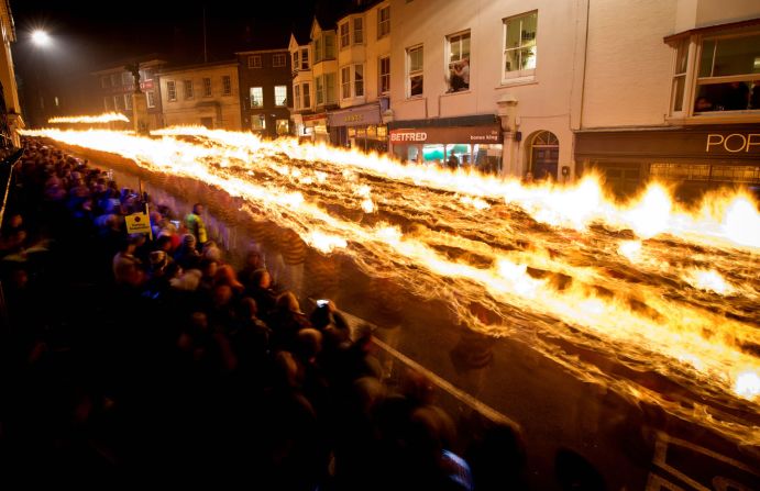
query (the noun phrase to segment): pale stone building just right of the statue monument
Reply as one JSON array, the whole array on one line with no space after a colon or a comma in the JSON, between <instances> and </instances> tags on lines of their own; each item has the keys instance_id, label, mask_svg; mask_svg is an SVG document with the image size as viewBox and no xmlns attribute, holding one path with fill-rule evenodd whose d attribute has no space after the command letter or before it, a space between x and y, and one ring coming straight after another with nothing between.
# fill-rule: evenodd
<instances>
[{"instance_id":1,"label":"pale stone building just right of the statue monument","mask_svg":"<svg viewBox=\"0 0 760 491\"><path fill-rule=\"evenodd\" d=\"M166 126L242 130L236 60L164 69L158 80Z\"/></svg>"}]
</instances>

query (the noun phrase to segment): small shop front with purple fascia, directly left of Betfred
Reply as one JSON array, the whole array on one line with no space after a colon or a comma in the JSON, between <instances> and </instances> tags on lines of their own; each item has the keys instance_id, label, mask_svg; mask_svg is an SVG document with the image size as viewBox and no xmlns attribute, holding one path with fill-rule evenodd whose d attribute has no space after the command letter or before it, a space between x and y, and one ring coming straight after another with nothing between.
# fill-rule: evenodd
<instances>
[{"instance_id":1,"label":"small shop front with purple fascia, directly left of Betfred","mask_svg":"<svg viewBox=\"0 0 760 491\"><path fill-rule=\"evenodd\" d=\"M378 103L340 109L328 113L333 143L363 152L386 153L388 130Z\"/></svg>"}]
</instances>

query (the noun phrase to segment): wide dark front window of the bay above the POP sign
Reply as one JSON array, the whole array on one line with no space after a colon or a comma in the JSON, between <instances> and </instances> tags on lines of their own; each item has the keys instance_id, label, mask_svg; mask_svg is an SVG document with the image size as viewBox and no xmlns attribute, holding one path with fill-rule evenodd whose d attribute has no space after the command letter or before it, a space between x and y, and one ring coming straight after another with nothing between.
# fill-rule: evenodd
<instances>
[{"instance_id":1,"label":"wide dark front window of the bay above the POP sign","mask_svg":"<svg viewBox=\"0 0 760 491\"><path fill-rule=\"evenodd\" d=\"M760 33L702 40L694 112L760 110L758 74Z\"/></svg>"}]
</instances>

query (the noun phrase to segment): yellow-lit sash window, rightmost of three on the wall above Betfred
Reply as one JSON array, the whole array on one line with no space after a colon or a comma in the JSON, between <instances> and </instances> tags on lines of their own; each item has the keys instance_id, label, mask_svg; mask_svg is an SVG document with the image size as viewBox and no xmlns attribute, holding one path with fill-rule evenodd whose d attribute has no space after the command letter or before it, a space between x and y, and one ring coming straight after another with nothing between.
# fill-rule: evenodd
<instances>
[{"instance_id":1,"label":"yellow-lit sash window, rightmost of three on the wall above Betfred","mask_svg":"<svg viewBox=\"0 0 760 491\"><path fill-rule=\"evenodd\" d=\"M503 80L535 74L537 26L538 12L504 20Z\"/></svg>"}]
</instances>

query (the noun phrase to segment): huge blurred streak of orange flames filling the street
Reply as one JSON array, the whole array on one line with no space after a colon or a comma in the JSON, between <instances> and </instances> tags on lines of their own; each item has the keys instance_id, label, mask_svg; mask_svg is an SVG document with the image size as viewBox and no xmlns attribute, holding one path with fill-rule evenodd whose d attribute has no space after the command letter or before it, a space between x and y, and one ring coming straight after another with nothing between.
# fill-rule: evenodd
<instances>
[{"instance_id":1,"label":"huge blurred streak of orange flames filling the street","mask_svg":"<svg viewBox=\"0 0 760 491\"><path fill-rule=\"evenodd\" d=\"M564 354L552 341L612 358L625 354L640 372L689 387L695 400L719 393L760 412L752 389L760 359L751 348L760 345L752 310L760 301L760 214L741 192L712 194L685 209L652 185L617 203L593 176L566 187L524 187L388 156L203 127L167 129L153 137L93 130L25 134L217 186L320 252L350 256L371 277L393 276L422 298L447 300L463 317L471 302L488 305L503 325L480 328L508 333L584 380L760 443L751 422L737 421L719 405L701 417L634 379L619 380ZM373 213L372 220L341 211L359 209ZM731 294L733 301L716 303L686 284ZM745 310L726 315L731 309Z\"/></svg>"}]
</instances>

